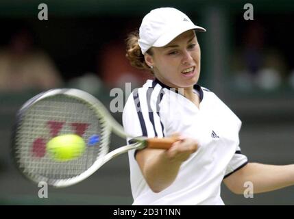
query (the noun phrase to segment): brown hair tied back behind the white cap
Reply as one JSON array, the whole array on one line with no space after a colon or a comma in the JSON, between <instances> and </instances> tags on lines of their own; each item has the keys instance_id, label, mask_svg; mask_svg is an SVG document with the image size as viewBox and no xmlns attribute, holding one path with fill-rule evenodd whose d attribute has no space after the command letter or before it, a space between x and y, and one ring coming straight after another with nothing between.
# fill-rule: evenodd
<instances>
[{"instance_id":1,"label":"brown hair tied back behind the white cap","mask_svg":"<svg viewBox=\"0 0 294 219\"><path fill-rule=\"evenodd\" d=\"M140 46L138 44L139 32L134 31L126 39L127 43L127 53L126 57L130 61L130 64L139 69L151 70L151 68L146 64L144 55L141 52ZM152 55L151 49L147 51L149 55Z\"/></svg>"}]
</instances>

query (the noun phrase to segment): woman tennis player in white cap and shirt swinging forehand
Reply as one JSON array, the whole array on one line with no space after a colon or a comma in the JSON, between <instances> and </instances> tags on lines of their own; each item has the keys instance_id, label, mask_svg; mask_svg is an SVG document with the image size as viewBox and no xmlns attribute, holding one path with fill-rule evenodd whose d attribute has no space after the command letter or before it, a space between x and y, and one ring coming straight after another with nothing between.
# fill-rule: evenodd
<instances>
[{"instance_id":1,"label":"woman tennis player in white cap and shirt swinging forehand","mask_svg":"<svg viewBox=\"0 0 294 219\"><path fill-rule=\"evenodd\" d=\"M294 184L294 165L249 163L241 153L241 120L213 92L197 84L206 31L175 8L151 10L127 39L130 63L154 80L132 92L123 126L132 136L177 140L169 150L129 151L133 205L223 205L221 182L243 194Z\"/></svg>"}]
</instances>

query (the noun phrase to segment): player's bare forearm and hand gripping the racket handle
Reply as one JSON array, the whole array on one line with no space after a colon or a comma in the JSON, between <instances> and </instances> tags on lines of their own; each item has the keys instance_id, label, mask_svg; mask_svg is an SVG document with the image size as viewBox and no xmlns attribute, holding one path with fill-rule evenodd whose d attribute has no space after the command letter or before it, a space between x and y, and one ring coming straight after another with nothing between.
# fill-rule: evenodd
<instances>
[{"instance_id":1,"label":"player's bare forearm and hand gripping the racket handle","mask_svg":"<svg viewBox=\"0 0 294 219\"><path fill-rule=\"evenodd\" d=\"M179 140L171 149L144 149L138 151L136 160L140 170L153 192L161 192L169 187L184 162L192 153L197 151L197 142L186 138Z\"/></svg>"}]
</instances>

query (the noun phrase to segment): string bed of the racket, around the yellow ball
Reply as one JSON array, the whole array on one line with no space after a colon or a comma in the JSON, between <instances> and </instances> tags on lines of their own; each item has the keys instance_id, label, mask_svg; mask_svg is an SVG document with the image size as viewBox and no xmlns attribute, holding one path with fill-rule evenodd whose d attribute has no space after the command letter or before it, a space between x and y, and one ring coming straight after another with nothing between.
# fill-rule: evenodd
<instances>
[{"instance_id":1,"label":"string bed of the racket, around the yellow ball","mask_svg":"<svg viewBox=\"0 0 294 219\"><path fill-rule=\"evenodd\" d=\"M16 131L16 153L19 157L19 166L27 175L38 176L38 180L46 179L53 182L80 175L93 165L99 155L107 153L108 150L110 130L106 120L97 116L99 115L93 108L77 99L66 98L64 95L38 101L34 107L25 112ZM49 122L55 122L59 126L50 126ZM101 137L100 142L95 145L87 144L86 150L80 157L68 162L57 162L46 150L41 156L40 151L44 150L44 144L54 137L53 133L63 135L77 131L73 129L73 123L88 124L82 134L86 143L91 136L95 135ZM40 142L35 144L33 150L32 146L36 140Z\"/></svg>"}]
</instances>

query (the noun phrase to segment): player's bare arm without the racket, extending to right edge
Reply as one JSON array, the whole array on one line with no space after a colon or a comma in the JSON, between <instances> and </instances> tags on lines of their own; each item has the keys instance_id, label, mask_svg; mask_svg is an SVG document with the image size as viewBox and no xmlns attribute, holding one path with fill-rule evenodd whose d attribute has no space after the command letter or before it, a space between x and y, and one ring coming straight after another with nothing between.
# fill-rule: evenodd
<instances>
[{"instance_id":1,"label":"player's bare arm without the racket, extending to right edge","mask_svg":"<svg viewBox=\"0 0 294 219\"><path fill-rule=\"evenodd\" d=\"M246 181L253 183L254 193L269 192L294 185L294 164L275 166L249 163L223 180L236 194L243 194Z\"/></svg>"}]
</instances>

